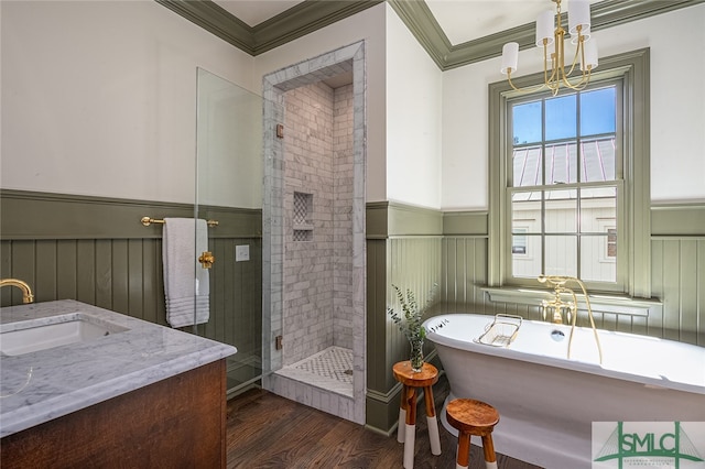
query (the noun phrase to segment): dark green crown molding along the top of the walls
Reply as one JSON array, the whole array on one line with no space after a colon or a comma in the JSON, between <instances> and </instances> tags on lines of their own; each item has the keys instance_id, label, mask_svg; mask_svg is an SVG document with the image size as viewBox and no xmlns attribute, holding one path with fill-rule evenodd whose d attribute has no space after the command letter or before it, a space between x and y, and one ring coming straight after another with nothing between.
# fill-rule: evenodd
<instances>
[{"instance_id":1,"label":"dark green crown molding along the top of the walls","mask_svg":"<svg viewBox=\"0 0 705 469\"><path fill-rule=\"evenodd\" d=\"M383 1L390 4L429 56L444 72L499 57L502 45L507 42L518 42L520 50L529 48L534 43L534 24L529 23L453 45L426 2L415 0L305 0L254 28L231 15L212 0L154 1L252 56ZM703 2L705 0L604 0L590 7L592 30L599 31Z\"/></svg>"}]
</instances>

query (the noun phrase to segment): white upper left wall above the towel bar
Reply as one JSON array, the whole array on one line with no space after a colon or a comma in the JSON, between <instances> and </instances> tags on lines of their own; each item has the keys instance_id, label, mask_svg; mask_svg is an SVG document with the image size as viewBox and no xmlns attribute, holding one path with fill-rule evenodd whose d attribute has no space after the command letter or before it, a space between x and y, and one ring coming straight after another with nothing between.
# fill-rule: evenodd
<instances>
[{"instance_id":1,"label":"white upper left wall above the towel bar","mask_svg":"<svg viewBox=\"0 0 705 469\"><path fill-rule=\"evenodd\" d=\"M251 56L154 1L0 15L3 188L193 203L196 67L261 88Z\"/></svg>"}]
</instances>

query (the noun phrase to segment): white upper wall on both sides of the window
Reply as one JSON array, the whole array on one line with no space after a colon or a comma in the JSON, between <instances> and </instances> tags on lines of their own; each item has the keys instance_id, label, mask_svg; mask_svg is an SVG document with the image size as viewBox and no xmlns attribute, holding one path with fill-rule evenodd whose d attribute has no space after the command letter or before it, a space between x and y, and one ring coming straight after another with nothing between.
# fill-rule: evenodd
<instances>
[{"instance_id":1,"label":"white upper wall on both sides of the window","mask_svg":"<svg viewBox=\"0 0 705 469\"><path fill-rule=\"evenodd\" d=\"M597 31L600 56L651 48L651 200L705 200L705 4ZM535 48L518 76L542 70ZM446 210L488 208L488 85L500 58L444 73L443 196Z\"/></svg>"}]
</instances>

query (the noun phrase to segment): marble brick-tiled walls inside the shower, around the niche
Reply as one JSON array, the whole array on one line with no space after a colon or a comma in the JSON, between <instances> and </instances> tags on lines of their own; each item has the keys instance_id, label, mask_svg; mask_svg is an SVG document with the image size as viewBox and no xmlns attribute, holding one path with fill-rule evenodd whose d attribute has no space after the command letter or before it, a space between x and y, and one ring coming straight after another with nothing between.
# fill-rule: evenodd
<instances>
[{"instance_id":1,"label":"marble brick-tiled walls inside the shower, around the niche","mask_svg":"<svg viewBox=\"0 0 705 469\"><path fill-rule=\"evenodd\" d=\"M336 143L334 95L327 85L315 83L292 89L284 98L284 366L333 346L334 310L339 305L340 315L345 316L345 306L351 308L347 290L352 269L352 193L348 184L337 200L336 185L351 182L352 153L351 143ZM348 99L341 102L348 103ZM338 112L347 119L347 112ZM351 140L351 123L348 126L350 130L343 133ZM341 162L337 161L338 152ZM345 161L348 154L349 163ZM337 175L338 170L348 174ZM293 234L294 193L310 194L312 198L312 211L306 217L313 229L310 241L297 241L300 238ZM343 218L338 211L344 212ZM346 285L346 291L338 293L336 284ZM351 347L351 323L348 320L347 325L348 339L343 347Z\"/></svg>"}]
</instances>

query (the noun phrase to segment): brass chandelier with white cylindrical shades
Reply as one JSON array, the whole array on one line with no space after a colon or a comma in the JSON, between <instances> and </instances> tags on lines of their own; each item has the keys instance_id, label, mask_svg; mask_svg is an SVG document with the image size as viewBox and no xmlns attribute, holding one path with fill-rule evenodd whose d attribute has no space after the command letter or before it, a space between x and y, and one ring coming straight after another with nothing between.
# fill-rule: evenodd
<instances>
[{"instance_id":1,"label":"brass chandelier with white cylindrical shades","mask_svg":"<svg viewBox=\"0 0 705 469\"><path fill-rule=\"evenodd\" d=\"M553 11L546 10L536 19L536 46L543 47L543 84L533 88L517 88L511 81L511 74L517 72L519 61L519 44L510 42L502 47L501 73L507 75L509 85L517 91L538 91L549 88L553 96L563 86L579 90L590 80L590 72L597 67L597 44L590 39L590 6L588 0L571 0L568 3L568 30L561 25L561 0L555 3ZM565 34L571 34L571 43L575 45L573 62L565 62ZM581 63L579 74L575 73Z\"/></svg>"}]
</instances>

